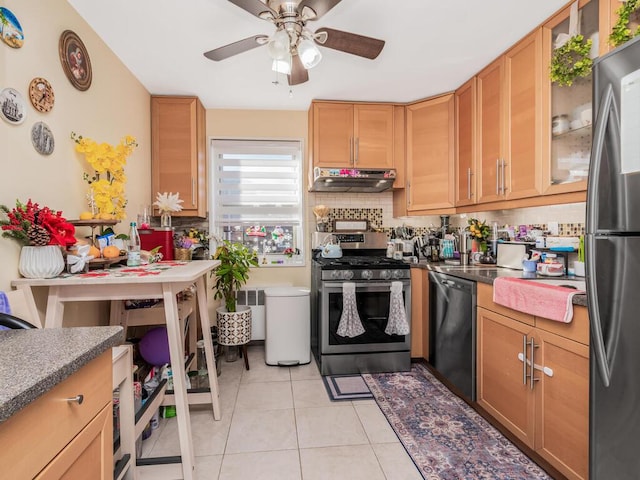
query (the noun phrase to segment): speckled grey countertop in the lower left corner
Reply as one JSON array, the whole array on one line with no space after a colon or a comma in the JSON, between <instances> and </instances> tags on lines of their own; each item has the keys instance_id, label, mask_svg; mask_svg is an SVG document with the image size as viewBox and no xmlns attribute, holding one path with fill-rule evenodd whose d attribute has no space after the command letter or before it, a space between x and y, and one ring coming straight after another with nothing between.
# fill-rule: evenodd
<instances>
[{"instance_id":1,"label":"speckled grey countertop in the lower left corner","mask_svg":"<svg viewBox=\"0 0 640 480\"><path fill-rule=\"evenodd\" d=\"M119 326L0 331L0 423L123 341Z\"/></svg>"}]
</instances>

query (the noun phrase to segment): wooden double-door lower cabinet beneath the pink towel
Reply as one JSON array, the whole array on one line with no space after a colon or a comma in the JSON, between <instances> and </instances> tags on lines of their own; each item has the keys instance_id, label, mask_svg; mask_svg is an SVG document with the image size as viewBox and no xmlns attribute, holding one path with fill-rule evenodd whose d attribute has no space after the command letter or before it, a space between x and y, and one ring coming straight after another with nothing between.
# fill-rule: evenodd
<instances>
[{"instance_id":1,"label":"wooden double-door lower cabinet beneath the pink towel","mask_svg":"<svg viewBox=\"0 0 640 480\"><path fill-rule=\"evenodd\" d=\"M588 478L589 346L546 330L564 326L550 320L483 307L477 319L478 404L567 478Z\"/></svg>"}]
</instances>

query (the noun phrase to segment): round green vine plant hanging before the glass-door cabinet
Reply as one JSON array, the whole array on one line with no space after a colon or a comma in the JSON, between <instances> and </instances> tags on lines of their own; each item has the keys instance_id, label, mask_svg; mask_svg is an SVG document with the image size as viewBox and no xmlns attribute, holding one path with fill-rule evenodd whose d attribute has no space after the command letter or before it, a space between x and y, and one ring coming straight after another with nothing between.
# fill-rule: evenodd
<instances>
[{"instance_id":1,"label":"round green vine plant hanging before the glass-door cabinet","mask_svg":"<svg viewBox=\"0 0 640 480\"><path fill-rule=\"evenodd\" d=\"M589 76L593 66L589 56L592 43L591 39L585 40L583 35L574 35L556 48L549 66L551 81L561 87L569 87L576 78Z\"/></svg>"}]
</instances>

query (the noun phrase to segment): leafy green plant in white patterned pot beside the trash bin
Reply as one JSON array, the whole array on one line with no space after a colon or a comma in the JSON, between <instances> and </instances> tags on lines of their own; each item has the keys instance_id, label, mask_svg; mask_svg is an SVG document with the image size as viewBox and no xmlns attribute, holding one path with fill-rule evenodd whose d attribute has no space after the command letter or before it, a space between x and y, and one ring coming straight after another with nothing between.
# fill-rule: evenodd
<instances>
[{"instance_id":1,"label":"leafy green plant in white patterned pot beside the trash bin","mask_svg":"<svg viewBox=\"0 0 640 480\"><path fill-rule=\"evenodd\" d=\"M251 340L251 308L243 305L238 309L236 292L247 283L251 267L258 266L258 259L255 252L242 243L228 240L218 246L213 259L220 261L220 265L212 272L216 277L213 298L222 299L224 303L216 309L218 343L228 347L242 345L248 370L246 345Z\"/></svg>"}]
</instances>

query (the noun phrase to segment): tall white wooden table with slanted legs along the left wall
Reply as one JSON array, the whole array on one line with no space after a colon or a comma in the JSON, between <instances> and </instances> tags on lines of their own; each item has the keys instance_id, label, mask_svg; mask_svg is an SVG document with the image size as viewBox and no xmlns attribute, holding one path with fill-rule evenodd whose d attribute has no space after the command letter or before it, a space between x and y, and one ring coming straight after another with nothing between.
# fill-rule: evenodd
<instances>
[{"instance_id":1,"label":"tall white wooden table with slanted legs along the left wall","mask_svg":"<svg viewBox=\"0 0 640 480\"><path fill-rule=\"evenodd\" d=\"M196 285L198 313L205 339L205 355L213 417L220 419L218 377L207 309L206 276L219 265L218 260L192 262L160 262L142 267L92 270L48 279L21 278L11 282L17 289L49 287L45 328L62 327L66 302L96 300L162 299L167 324L169 354L173 370L174 399L180 440L182 472L185 480L193 479L194 454L189 416L189 399L185 383L184 339L180 328L176 295L192 284ZM208 399L207 399L208 403Z\"/></svg>"}]
</instances>

